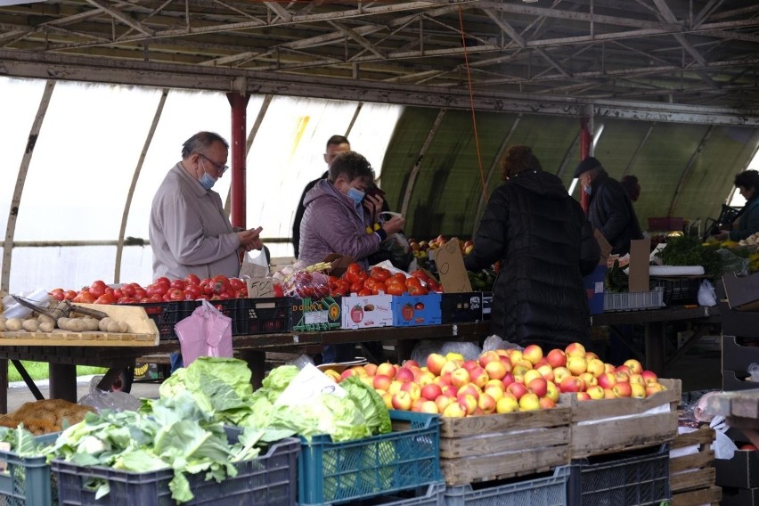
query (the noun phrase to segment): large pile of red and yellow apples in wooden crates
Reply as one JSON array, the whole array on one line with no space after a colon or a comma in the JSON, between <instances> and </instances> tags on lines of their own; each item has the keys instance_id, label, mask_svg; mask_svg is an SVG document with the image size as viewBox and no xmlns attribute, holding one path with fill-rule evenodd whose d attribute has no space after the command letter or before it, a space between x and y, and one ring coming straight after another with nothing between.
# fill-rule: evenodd
<instances>
[{"instance_id":1,"label":"large pile of red and yellow apples in wooden crates","mask_svg":"<svg viewBox=\"0 0 759 506\"><path fill-rule=\"evenodd\" d=\"M652 371L630 359L619 366L572 343L565 349L529 345L524 350L487 351L477 360L455 353L431 354L420 366L407 361L352 366L325 373L336 382L350 376L371 385L388 409L440 413L445 417L549 409L560 393L579 400L652 396L665 388Z\"/></svg>"}]
</instances>

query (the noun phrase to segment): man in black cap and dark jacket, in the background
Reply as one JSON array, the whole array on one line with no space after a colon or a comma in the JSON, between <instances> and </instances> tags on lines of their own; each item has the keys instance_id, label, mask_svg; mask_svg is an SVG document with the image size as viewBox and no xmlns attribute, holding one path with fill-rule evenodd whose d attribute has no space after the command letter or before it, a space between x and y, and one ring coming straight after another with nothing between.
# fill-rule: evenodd
<instances>
[{"instance_id":1,"label":"man in black cap and dark jacket, in the background","mask_svg":"<svg viewBox=\"0 0 759 506\"><path fill-rule=\"evenodd\" d=\"M642 239L641 225L633 202L616 179L612 179L598 159L587 157L575 169L583 191L588 193L588 221L611 244L613 254L630 252L630 241Z\"/></svg>"}]
</instances>

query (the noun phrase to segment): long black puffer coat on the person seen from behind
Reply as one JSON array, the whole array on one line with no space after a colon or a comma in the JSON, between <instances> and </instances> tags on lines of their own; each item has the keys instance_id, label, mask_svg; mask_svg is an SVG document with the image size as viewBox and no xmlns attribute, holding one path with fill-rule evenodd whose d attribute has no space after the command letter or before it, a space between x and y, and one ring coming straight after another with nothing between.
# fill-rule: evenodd
<instances>
[{"instance_id":1,"label":"long black puffer coat on the person seen from behind","mask_svg":"<svg viewBox=\"0 0 759 506\"><path fill-rule=\"evenodd\" d=\"M580 205L561 180L523 172L495 189L465 258L477 271L501 260L491 330L521 346L587 344L588 299L583 276L600 249Z\"/></svg>"}]
</instances>

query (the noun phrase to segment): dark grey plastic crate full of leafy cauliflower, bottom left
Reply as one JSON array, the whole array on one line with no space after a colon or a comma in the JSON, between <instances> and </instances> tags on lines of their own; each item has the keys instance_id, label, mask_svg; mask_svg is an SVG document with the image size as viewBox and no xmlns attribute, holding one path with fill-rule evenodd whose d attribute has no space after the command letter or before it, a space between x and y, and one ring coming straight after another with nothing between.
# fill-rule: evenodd
<instances>
[{"instance_id":1,"label":"dark grey plastic crate full of leafy cauliflower, bottom left","mask_svg":"<svg viewBox=\"0 0 759 506\"><path fill-rule=\"evenodd\" d=\"M184 502L224 506L233 504L261 504L294 506L296 491L296 460L300 443L288 437L269 445L256 459L235 462L236 477L224 481L206 481L205 472L185 475L190 482L194 498ZM53 460L53 471L58 476L61 506L175 506L168 489L174 469L136 473L101 466L78 466L71 462ZM96 499L89 484L106 480L110 493Z\"/></svg>"}]
</instances>

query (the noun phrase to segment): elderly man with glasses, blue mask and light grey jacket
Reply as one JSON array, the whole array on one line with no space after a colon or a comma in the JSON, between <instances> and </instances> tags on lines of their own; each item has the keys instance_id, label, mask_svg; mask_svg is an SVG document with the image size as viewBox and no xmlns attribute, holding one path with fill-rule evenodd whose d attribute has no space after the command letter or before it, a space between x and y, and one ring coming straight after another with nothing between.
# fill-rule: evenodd
<instances>
[{"instance_id":1,"label":"elderly man with glasses, blue mask and light grey jacket","mask_svg":"<svg viewBox=\"0 0 759 506\"><path fill-rule=\"evenodd\" d=\"M261 227L235 231L218 193L211 190L226 172L229 143L200 132L183 145L182 160L153 197L150 238L153 279L209 278L240 273L240 249L261 249Z\"/></svg>"}]
</instances>

